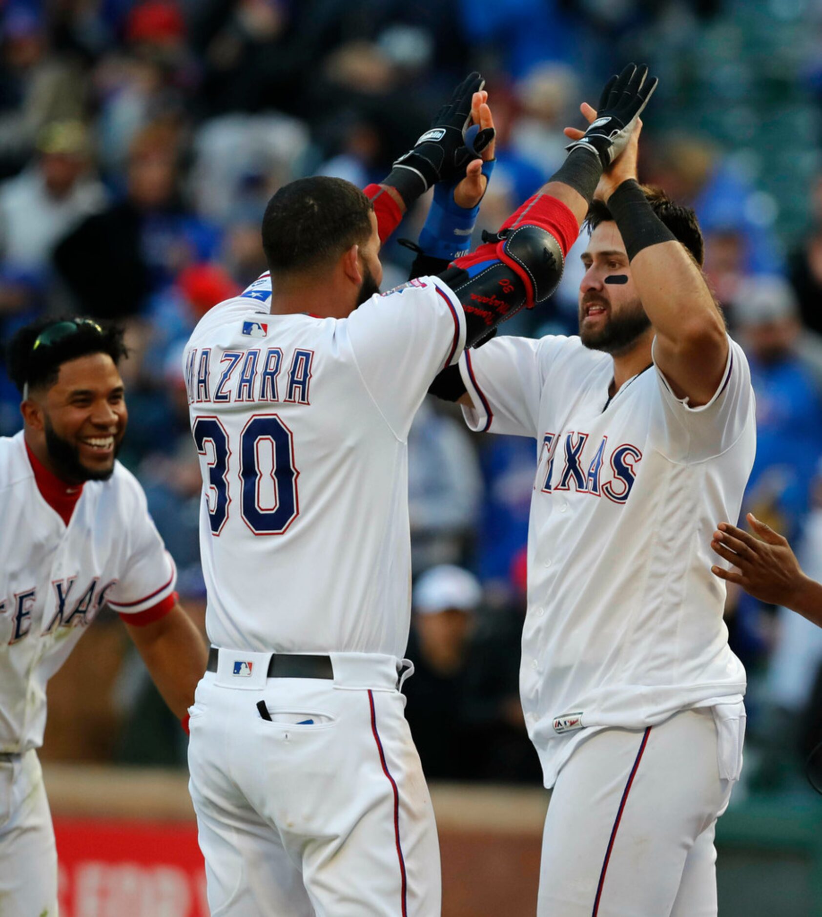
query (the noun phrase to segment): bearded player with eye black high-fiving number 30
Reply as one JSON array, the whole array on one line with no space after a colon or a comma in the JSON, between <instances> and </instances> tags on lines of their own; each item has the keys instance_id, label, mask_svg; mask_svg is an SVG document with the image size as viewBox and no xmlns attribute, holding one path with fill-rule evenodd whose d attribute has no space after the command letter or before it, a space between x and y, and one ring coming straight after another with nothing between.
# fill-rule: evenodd
<instances>
[{"instance_id":1,"label":"bearded player with eye black high-fiving number 30","mask_svg":"<svg viewBox=\"0 0 822 917\"><path fill-rule=\"evenodd\" d=\"M583 106L571 149L618 93ZM708 545L740 511L753 392L696 217L635 181L640 129L588 214L579 337L499 337L436 386L472 429L536 440L520 685L553 787L543 917L716 914L741 767L745 672Z\"/></svg>"}]
</instances>

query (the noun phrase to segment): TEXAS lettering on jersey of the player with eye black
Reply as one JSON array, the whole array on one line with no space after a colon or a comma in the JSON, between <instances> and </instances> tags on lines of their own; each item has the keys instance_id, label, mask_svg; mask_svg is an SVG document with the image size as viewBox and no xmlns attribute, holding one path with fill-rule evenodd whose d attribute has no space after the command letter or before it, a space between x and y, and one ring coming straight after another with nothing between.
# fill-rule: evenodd
<instances>
[{"instance_id":1,"label":"TEXAS lettering on jersey of the player with eye black","mask_svg":"<svg viewBox=\"0 0 822 917\"><path fill-rule=\"evenodd\" d=\"M541 465L547 459L548 470L542 478L542 492L570 491L573 487L577 493L589 493L594 497L604 495L613 503L626 503L636 481L641 450L630 443L608 450L608 436L602 436L596 444L588 443L589 438L587 433L577 430L564 436L543 435ZM561 458L556 460L560 448ZM562 469L556 476L554 464Z\"/></svg>"}]
</instances>

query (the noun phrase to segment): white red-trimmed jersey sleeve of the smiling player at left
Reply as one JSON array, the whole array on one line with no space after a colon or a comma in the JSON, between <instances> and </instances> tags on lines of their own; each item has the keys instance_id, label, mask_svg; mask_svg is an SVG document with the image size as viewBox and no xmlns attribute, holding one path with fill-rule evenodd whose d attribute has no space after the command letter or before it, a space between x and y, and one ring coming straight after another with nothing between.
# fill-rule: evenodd
<instances>
[{"instance_id":1,"label":"white red-trimmed jersey sleeve of the smiling player at left","mask_svg":"<svg viewBox=\"0 0 822 917\"><path fill-rule=\"evenodd\" d=\"M119 524L127 526L119 579L105 593L105 601L119 614L135 614L167 599L174 591L174 561L148 514L146 494L129 471L124 476Z\"/></svg>"}]
</instances>

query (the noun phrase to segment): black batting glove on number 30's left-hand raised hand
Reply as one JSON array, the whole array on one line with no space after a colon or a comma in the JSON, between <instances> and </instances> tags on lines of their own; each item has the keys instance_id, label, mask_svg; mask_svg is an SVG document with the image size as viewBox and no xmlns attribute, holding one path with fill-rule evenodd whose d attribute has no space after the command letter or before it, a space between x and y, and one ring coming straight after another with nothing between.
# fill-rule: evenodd
<instances>
[{"instance_id":1,"label":"black batting glove on number 30's left-hand raised hand","mask_svg":"<svg viewBox=\"0 0 822 917\"><path fill-rule=\"evenodd\" d=\"M399 160L394 162L388 178L382 182L395 188L410 207L437 182L452 182L464 173L467 164L494 138L492 127L480 130L471 147L466 145L466 130L471 123L471 100L485 85L477 72L460 83L451 101L437 113L431 127Z\"/></svg>"}]
</instances>

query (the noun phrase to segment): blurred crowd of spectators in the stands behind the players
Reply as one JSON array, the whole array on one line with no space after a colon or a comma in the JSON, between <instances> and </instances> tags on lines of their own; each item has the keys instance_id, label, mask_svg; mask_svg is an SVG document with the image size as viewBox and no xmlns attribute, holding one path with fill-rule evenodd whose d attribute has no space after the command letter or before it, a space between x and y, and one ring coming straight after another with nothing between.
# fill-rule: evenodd
<instances>
[{"instance_id":1,"label":"blurred crowd of spectators in the stands behind the players","mask_svg":"<svg viewBox=\"0 0 822 917\"><path fill-rule=\"evenodd\" d=\"M121 459L177 561L182 602L202 610L181 350L199 316L266 270L269 196L308 174L379 181L476 68L499 130L477 235L496 229L561 163L579 103L595 104L625 61L648 61L661 84L641 179L696 208L709 282L751 361L759 444L744 509L819 577L820 35L819 0L5 0L0 337L49 313L127 326ZM416 239L426 205L400 238ZM508 333L575 333L584 244L553 300ZM384 249L385 288L411 257ZM0 434L19 428L18 403L0 372ZM429 401L409 466L406 693L423 766L539 781L518 697L534 444L471 436ZM727 616L751 677L748 784L790 783L819 737L822 631L740 594ZM72 754L184 760L184 736L127 656L115 709L115 737Z\"/></svg>"}]
</instances>

